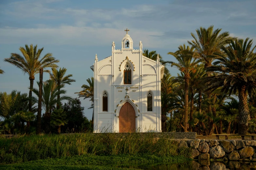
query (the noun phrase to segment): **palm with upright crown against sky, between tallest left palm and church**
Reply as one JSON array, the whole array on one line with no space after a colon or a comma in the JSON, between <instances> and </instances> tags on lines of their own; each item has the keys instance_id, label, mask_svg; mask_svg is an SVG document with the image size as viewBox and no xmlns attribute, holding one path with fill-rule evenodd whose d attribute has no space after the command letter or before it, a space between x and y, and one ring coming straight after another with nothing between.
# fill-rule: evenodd
<instances>
[{"instance_id":1,"label":"palm with upright crown against sky, between tallest left palm and church","mask_svg":"<svg viewBox=\"0 0 256 170\"><path fill-rule=\"evenodd\" d=\"M50 79L54 80L54 86L59 87L58 91L60 91L61 88L65 87L65 84L71 85L72 82L75 82L75 79L71 79L72 74L69 74L65 76L67 69L66 68L60 68L57 70L56 68L52 68L52 73L50 73ZM57 96L57 99L60 99L60 94ZM57 104L57 109L60 108L60 105Z\"/></svg>"}]
</instances>

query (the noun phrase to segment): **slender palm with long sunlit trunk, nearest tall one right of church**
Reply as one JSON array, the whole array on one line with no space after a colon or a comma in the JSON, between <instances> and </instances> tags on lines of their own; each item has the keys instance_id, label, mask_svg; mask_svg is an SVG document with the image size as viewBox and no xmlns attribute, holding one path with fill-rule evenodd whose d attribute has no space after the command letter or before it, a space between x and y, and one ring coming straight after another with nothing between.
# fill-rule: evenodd
<instances>
[{"instance_id":1,"label":"slender palm with long sunlit trunk, nearest tall one right of church","mask_svg":"<svg viewBox=\"0 0 256 170\"><path fill-rule=\"evenodd\" d=\"M179 50L176 52L168 52L168 54L173 55L178 63L167 61L166 63L170 63L172 67L178 68L182 73L184 73L184 81L185 81L185 113L184 113L184 132L187 132L187 124L188 124L188 91L189 91L189 79L190 74L192 72L196 72L196 64L199 62L194 59L196 53L194 48L186 47L185 44L180 45Z\"/></svg>"}]
</instances>

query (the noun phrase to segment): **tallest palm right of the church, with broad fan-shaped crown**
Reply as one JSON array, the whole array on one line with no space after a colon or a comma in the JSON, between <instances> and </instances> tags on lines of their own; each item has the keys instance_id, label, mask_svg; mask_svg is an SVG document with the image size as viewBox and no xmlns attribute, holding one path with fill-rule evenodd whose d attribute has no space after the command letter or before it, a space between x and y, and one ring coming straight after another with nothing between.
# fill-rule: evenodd
<instances>
[{"instance_id":1,"label":"tallest palm right of the church, with broad fan-shaped crown","mask_svg":"<svg viewBox=\"0 0 256 170\"><path fill-rule=\"evenodd\" d=\"M231 37L229 32L220 33L222 29L217 28L213 31L213 25L207 29L200 27L196 29L196 35L191 33L194 40L188 41L193 48L196 49L198 58L204 63L204 67L207 68L212 65L214 61L214 52L220 52L220 47L227 45L230 40L235 38ZM210 72L207 72L207 77L210 76ZM210 92L207 92L207 97L210 97ZM211 106L208 107L208 112L211 111Z\"/></svg>"}]
</instances>

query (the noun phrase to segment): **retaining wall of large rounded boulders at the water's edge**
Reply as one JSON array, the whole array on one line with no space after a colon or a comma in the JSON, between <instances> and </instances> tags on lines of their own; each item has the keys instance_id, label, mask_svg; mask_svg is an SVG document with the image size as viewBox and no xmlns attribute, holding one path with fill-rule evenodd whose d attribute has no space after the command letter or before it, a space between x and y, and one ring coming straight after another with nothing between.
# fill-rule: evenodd
<instances>
[{"instance_id":1,"label":"retaining wall of large rounded boulders at the water's edge","mask_svg":"<svg viewBox=\"0 0 256 170\"><path fill-rule=\"evenodd\" d=\"M254 140L175 140L179 148L190 147L191 157L199 160L219 159L256 162L256 141Z\"/></svg>"}]
</instances>

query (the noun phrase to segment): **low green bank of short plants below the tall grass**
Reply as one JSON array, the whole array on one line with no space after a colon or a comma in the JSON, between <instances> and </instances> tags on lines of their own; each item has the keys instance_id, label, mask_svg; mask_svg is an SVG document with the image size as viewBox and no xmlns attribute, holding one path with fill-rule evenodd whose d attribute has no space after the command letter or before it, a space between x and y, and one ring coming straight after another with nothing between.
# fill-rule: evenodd
<instances>
[{"instance_id":1,"label":"low green bank of short plants below the tall grass","mask_svg":"<svg viewBox=\"0 0 256 170\"><path fill-rule=\"evenodd\" d=\"M0 165L0 169L139 169L143 165L154 163L183 163L190 159L183 156L158 156L158 155L77 155L72 157L48 158L44 160L30 161Z\"/></svg>"}]
</instances>

